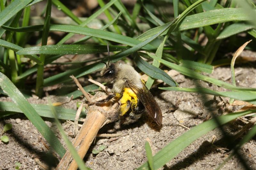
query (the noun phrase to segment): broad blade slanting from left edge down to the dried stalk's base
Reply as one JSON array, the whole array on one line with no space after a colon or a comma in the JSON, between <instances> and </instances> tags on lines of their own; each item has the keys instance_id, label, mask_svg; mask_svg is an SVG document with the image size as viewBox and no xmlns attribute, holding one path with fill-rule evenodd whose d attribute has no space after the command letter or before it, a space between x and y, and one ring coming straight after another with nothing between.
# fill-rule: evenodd
<instances>
[{"instance_id":1,"label":"broad blade slanting from left edge down to the dried stalk's base","mask_svg":"<svg viewBox=\"0 0 256 170\"><path fill-rule=\"evenodd\" d=\"M15 85L0 72L0 86L4 92L12 99L12 101L20 108L20 110L26 115L29 121L36 127L36 129L42 134L42 136L51 144L52 148L62 157L65 154L65 149L54 135L52 130L44 122L44 120L38 115L36 110L28 103L22 93L17 89Z\"/></svg>"}]
</instances>

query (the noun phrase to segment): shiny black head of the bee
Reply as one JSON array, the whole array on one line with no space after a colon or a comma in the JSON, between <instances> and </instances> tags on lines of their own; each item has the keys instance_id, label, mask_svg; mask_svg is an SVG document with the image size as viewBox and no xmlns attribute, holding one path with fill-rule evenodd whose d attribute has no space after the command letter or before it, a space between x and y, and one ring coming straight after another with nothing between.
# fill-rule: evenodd
<instances>
[{"instance_id":1,"label":"shiny black head of the bee","mask_svg":"<svg viewBox=\"0 0 256 170\"><path fill-rule=\"evenodd\" d=\"M101 70L100 75L107 82L113 81L116 78L117 68L115 63L107 62L106 67Z\"/></svg>"}]
</instances>

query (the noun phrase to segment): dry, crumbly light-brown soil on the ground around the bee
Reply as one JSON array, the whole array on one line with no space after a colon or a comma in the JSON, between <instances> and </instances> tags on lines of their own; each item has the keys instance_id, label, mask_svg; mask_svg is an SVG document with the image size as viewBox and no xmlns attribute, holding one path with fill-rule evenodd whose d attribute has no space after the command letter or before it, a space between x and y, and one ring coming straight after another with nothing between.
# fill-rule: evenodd
<instances>
[{"instance_id":1,"label":"dry, crumbly light-brown soil on the ground around the bee","mask_svg":"<svg viewBox=\"0 0 256 170\"><path fill-rule=\"evenodd\" d=\"M248 67L247 65L247 67L237 67L235 70L238 86L256 87L256 69L254 67ZM230 68L222 67L216 68L210 76L230 83L229 73ZM199 84L203 87L223 90L203 81L191 80L181 74L175 76L174 79L179 83L180 87L195 87L196 84ZM104 126L100 133L123 133L124 135L114 138L97 137L84 158L86 166L92 169L134 169L147 160L144 149L146 138L152 142L152 152L155 154L186 132L187 128L192 128L202 123L210 112L214 112L217 115L221 114L217 106L220 99L211 95L207 95L207 99L202 102L202 96L198 93L161 91L157 88L153 88L151 91L163 113L162 126L158 127L146 114L139 122L131 125L120 126L118 122L115 122ZM68 100L67 98L51 97L55 101ZM34 97L28 100L30 103L47 103L45 98L38 99ZM72 100L63 107L76 109L76 102L82 100L82 98ZM10 99L2 97L0 101L10 101ZM210 103L211 111L204 106L204 103ZM44 120L56 132L60 141L64 143L55 124L52 123L52 119L45 118ZM49 158L49 155L46 155L48 151L47 142L22 114L2 118L0 120L0 129L6 123L12 123L13 128L5 133L9 137L9 142L7 144L0 142L0 169L14 169L16 162L21 163L22 169L39 169L39 165L46 158ZM72 125L64 121L62 125L68 135L72 134ZM236 120L226 125L224 129L232 135L236 134L244 125L244 122ZM214 136L216 140L212 144ZM173 170L216 168L230 154L227 143L223 141L222 137L220 129L210 131L190 144L178 156L168 162L164 168ZM69 139L73 140L71 137ZM107 148L97 155L92 154L93 149L97 149L102 145L107 146ZM256 169L255 137L244 144L240 149L240 153L244 156L247 164L252 169ZM51 162L54 163L55 161L51 159ZM225 164L223 169L243 169L243 166L235 156Z\"/></svg>"}]
</instances>

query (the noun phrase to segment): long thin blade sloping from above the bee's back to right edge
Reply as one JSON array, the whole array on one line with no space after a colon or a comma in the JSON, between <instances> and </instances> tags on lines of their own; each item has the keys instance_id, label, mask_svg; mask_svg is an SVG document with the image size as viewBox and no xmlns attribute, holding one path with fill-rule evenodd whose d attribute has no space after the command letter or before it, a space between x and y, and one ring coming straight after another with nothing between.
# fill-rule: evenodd
<instances>
[{"instance_id":1,"label":"long thin blade sloping from above the bee's back to right edge","mask_svg":"<svg viewBox=\"0 0 256 170\"><path fill-rule=\"evenodd\" d=\"M167 67L173 69L173 70L176 70L178 72L180 72L181 74L184 74L188 77L191 77L191 78L196 78L196 79L200 79L200 80L204 80L204 81L207 81L207 82L210 82L212 84L215 84L215 85L218 85L218 86L221 86L221 87L224 87L224 88L227 88L227 89L230 89L230 90L246 90L246 91L256 91L256 88L244 88L244 87L236 87L234 85L230 85L226 82L223 82L223 81L220 81L220 80L217 80L215 78L211 78L211 77L208 77L208 76L205 76L205 75L202 75L202 74L199 74L198 72L196 71L193 71L193 70L190 70L186 67L181 67L179 65L176 65L176 64L173 64L173 63L170 63L166 60L163 60L161 58L158 58L156 57L155 55L151 55L150 53L148 53L148 55L150 57L152 57L153 59L157 59L159 62L163 63L164 65L166 65Z\"/></svg>"}]
</instances>

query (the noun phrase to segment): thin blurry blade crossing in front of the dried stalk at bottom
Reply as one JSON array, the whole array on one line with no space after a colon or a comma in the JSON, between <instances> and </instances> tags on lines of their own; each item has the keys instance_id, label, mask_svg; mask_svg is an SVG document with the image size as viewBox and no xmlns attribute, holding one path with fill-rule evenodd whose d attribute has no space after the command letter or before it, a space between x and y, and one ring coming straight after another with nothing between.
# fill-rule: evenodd
<instances>
[{"instance_id":1,"label":"thin blurry blade crossing in front of the dried stalk at bottom","mask_svg":"<svg viewBox=\"0 0 256 170\"><path fill-rule=\"evenodd\" d=\"M83 159L80 158L80 156L78 155L78 153L77 153L75 147L74 147L74 146L72 145L72 143L69 141L67 135L65 134L65 131L62 129L62 126L61 126L61 124L60 124L60 121L59 121L58 118L57 118L56 111L55 111L54 107L52 106L52 102L51 102L51 100L49 99L49 97L47 97L47 100L48 100L48 105L49 105L49 107L51 108L52 115L54 115L55 123L56 123L56 125L57 125L57 128L59 129L60 134L61 134L61 136L62 136L62 138L63 138L65 144L67 145L68 150L69 150L69 152L71 153L73 159L76 160L76 163L77 163L77 165L78 165L78 167L79 167L80 169L90 169L90 168L84 166L84 161L83 161Z\"/></svg>"}]
</instances>

